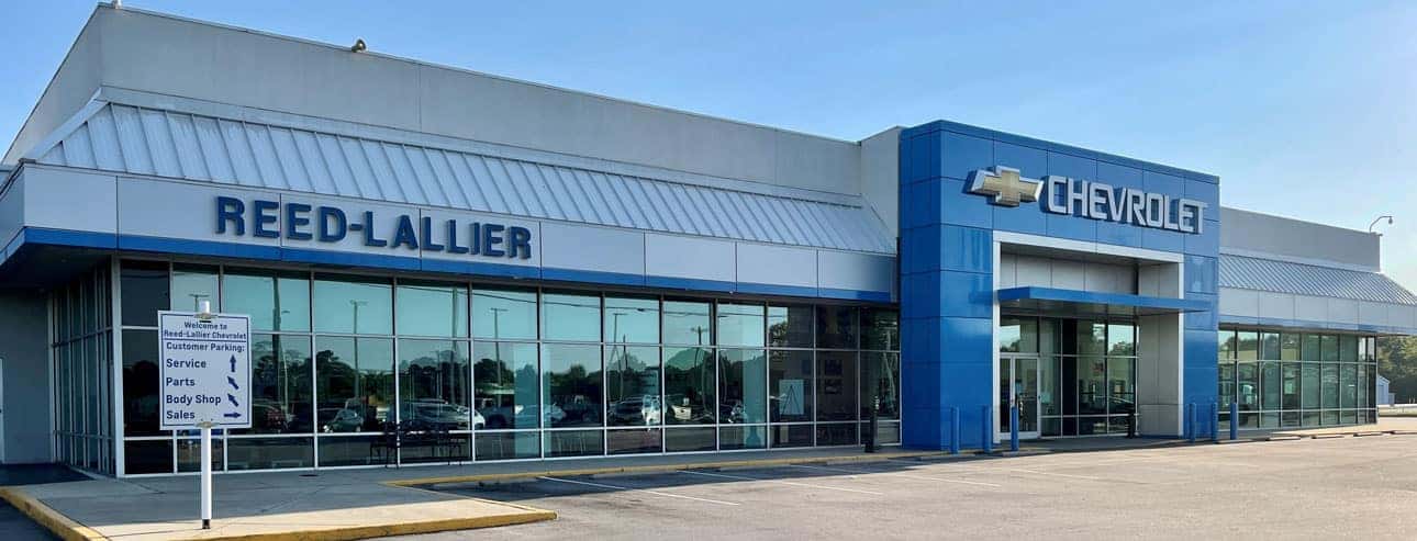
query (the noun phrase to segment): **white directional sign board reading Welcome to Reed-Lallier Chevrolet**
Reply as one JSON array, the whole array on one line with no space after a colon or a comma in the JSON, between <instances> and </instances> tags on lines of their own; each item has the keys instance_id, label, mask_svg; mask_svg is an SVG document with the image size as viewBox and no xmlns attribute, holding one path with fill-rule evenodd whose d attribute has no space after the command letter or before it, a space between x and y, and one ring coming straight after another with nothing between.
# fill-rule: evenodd
<instances>
[{"instance_id":1,"label":"white directional sign board reading Welcome to Reed-Lallier Chevrolet","mask_svg":"<svg viewBox=\"0 0 1417 541\"><path fill-rule=\"evenodd\" d=\"M251 428L251 317L159 312L162 429Z\"/></svg>"}]
</instances>

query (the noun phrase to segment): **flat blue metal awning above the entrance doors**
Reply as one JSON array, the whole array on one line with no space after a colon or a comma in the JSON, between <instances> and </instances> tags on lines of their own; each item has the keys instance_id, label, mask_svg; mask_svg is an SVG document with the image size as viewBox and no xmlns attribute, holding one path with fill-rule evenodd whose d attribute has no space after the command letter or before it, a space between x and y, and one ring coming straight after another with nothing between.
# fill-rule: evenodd
<instances>
[{"instance_id":1,"label":"flat blue metal awning above the entrance doors","mask_svg":"<svg viewBox=\"0 0 1417 541\"><path fill-rule=\"evenodd\" d=\"M1036 286L1000 289L998 295L1002 309L1060 316L1156 316L1212 309L1209 300Z\"/></svg>"}]
</instances>

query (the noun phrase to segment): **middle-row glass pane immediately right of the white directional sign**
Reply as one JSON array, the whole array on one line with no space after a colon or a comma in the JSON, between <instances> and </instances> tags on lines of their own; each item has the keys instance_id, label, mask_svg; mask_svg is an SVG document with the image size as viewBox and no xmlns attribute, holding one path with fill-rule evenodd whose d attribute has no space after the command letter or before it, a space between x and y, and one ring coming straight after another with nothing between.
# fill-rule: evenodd
<instances>
[{"instance_id":1,"label":"middle-row glass pane immediately right of the white directional sign","mask_svg":"<svg viewBox=\"0 0 1417 541\"><path fill-rule=\"evenodd\" d=\"M234 432L315 432L310 337L252 334L251 358L251 429Z\"/></svg>"}]
</instances>

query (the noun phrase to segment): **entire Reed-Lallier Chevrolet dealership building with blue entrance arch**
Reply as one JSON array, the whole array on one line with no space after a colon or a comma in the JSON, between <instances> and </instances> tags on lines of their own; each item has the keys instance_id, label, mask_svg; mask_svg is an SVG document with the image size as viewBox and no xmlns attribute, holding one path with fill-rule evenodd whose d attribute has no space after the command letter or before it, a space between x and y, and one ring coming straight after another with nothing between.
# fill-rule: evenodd
<instances>
[{"instance_id":1,"label":"entire Reed-Lallier Chevrolet dealership building with blue entrance arch","mask_svg":"<svg viewBox=\"0 0 1417 541\"><path fill-rule=\"evenodd\" d=\"M1379 238L944 120L860 142L99 6L4 160L6 463L193 472L157 310L249 314L218 470L1374 419ZM47 404L48 408L35 408ZM1134 425L1135 423L1135 425Z\"/></svg>"}]
</instances>

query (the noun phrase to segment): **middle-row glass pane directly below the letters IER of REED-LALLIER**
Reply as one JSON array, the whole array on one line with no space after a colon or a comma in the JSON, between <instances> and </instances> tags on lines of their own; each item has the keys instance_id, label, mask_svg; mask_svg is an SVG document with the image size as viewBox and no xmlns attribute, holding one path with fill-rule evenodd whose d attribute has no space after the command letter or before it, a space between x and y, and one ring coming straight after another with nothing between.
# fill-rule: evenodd
<instances>
[{"instance_id":1,"label":"middle-row glass pane directly below the letters IER of REED-LALLIER","mask_svg":"<svg viewBox=\"0 0 1417 541\"><path fill-rule=\"evenodd\" d=\"M472 367L476 389L473 408L486 422L486 429L537 428L541 391L536 344L475 341L472 347L472 357L476 358ZM482 452L480 442L478 452Z\"/></svg>"}]
</instances>

